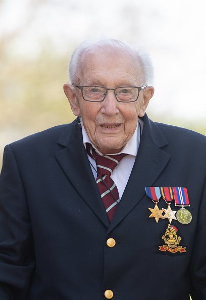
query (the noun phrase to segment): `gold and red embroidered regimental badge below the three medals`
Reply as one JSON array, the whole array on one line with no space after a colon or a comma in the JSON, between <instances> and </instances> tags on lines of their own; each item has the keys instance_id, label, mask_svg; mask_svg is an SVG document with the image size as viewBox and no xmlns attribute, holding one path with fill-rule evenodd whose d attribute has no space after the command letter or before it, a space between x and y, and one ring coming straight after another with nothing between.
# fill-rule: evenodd
<instances>
[{"instance_id":1,"label":"gold and red embroidered regimental badge below the three medals","mask_svg":"<svg viewBox=\"0 0 206 300\"><path fill-rule=\"evenodd\" d=\"M182 238L181 236L178 236L177 232L177 227L169 223L165 234L162 236L166 245L159 246L160 251L169 251L170 253L186 252L186 247L179 245Z\"/></svg>"}]
</instances>

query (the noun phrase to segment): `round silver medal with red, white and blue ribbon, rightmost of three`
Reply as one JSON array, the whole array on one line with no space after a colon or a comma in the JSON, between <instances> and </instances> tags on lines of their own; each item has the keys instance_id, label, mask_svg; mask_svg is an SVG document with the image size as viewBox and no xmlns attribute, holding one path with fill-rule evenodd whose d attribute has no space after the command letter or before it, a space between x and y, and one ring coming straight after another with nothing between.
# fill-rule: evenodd
<instances>
[{"instance_id":1,"label":"round silver medal with red, white and blue ribbon, rightmost of three","mask_svg":"<svg viewBox=\"0 0 206 300\"><path fill-rule=\"evenodd\" d=\"M177 212L177 220L181 224L189 224L192 220L191 213L185 209L189 207L189 197L186 187L173 187L175 206L181 206L182 208Z\"/></svg>"}]
</instances>

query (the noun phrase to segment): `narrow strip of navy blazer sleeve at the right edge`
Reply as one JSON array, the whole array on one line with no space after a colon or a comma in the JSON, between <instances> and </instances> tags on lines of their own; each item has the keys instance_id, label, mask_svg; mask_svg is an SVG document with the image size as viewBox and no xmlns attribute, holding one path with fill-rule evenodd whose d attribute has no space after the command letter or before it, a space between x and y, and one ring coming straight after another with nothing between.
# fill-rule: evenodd
<instances>
[{"instance_id":1,"label":"narrow strip of navy blazer sleeve at the right edge","mask_svg":"<svg viewBox=\"0 0 206 300\"><path fill-rule=\"evenodd\" d=\"M206 183L198 213L195 240L190 262L191 298L206 300Z\"/></svg>"}]
</instances>

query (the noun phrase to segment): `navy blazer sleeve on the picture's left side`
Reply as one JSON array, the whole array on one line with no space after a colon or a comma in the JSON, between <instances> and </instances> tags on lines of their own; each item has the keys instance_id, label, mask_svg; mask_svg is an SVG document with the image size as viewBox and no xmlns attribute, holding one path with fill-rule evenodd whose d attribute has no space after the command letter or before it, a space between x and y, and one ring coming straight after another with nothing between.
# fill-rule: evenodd
<instances>
[{"instance_id":1,"label":"navy blazer sleeve on the picture's left side","mask_svg":"<svg viewBox=\"0 0 206 300\"><path fill-rule=\"evenodd\" d=\"M18 164L7 145L0 176L0 299L24 300L34 268L26 193Z\"/></svg>"}]
</instances>

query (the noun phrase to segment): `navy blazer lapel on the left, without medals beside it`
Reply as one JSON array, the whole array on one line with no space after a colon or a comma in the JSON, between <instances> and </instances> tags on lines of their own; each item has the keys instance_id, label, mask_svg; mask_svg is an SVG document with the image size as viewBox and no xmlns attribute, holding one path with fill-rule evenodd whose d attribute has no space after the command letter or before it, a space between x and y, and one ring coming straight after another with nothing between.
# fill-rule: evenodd
<instances>
[{"instance_id":1,"label":"navy blazer lapel on the left, without medals beside it","mask_svg":"<svg viewBox=\"0 0 206 300\"><path fill-rule=\"evenodd\" d=\"M71 128L72 127L72 128ZM102 204L87 154L83 145L78 119L71 124L58 140L64 148L55 157L60 167L96 216L109 227L110 222Z\"/></svg>"}]
</instances>

